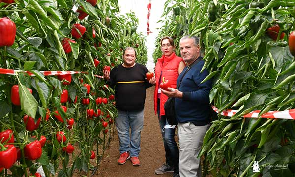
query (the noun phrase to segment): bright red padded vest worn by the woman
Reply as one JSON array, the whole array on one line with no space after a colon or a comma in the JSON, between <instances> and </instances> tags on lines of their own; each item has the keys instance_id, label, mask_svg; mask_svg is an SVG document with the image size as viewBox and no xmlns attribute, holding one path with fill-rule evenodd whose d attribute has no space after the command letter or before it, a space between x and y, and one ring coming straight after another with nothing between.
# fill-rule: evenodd
<instances>
[{"instance_id":1,"label":"bright red padded vest worn by the woman","mask_svg":"<svg viewBox=\"0 0 295 177\"><path fill-rule=\"evenodd\" d=\"M178 57L173 52L171 56L166 57L163 55L158 59L155 66L155 76L156 76L156 86L154 90L154 110L155 114L157 114L157 106L158 106L158 89L160 83L162 82L162 78L165 77L165 80L169 80L171 83L171 87L177 87L177 77L178 77L178 67L179 63L183 61L181 57ZM161 76L162 72L162 76ZM160 78L161 76L161 78ZM164 104L167 101L168 96L165 94L161 94L160 96L160 115L165 115Z\"/></svg>"}]
</instances>

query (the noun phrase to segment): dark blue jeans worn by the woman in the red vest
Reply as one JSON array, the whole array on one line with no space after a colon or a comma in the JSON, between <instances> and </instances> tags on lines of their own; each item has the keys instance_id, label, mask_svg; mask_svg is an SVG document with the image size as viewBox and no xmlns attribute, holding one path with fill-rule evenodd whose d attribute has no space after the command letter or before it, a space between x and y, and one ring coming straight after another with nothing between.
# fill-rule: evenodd
<instances>
[{"instance_id":1,"label":"dark blue jeans worn by the woman in the red vest","mask_svg":"<svg viewBox=\"0 0 295 177\"><path fill-rule=\"evenodd\" d=\"M164 128L165 125L168 125L168 122L166 120L166 116L161 116L161 118L159 117L160 115L159 100L160 99L158 99L157 113L158 113L162 138L164 142L166 164L168 164L169 166L173 166L174 172L178 173L179 151L178 151L177 143L175 142L175 139L174 139L176 128Z\"/></svg>"}]
</instances>

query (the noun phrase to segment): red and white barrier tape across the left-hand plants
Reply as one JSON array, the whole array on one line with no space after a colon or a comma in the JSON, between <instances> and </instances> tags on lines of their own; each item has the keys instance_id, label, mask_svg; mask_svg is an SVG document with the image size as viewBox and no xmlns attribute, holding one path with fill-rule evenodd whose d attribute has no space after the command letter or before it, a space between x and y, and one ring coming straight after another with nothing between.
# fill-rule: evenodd
<instances>
[{"instance_id":1,"label":"red and white barrier tape across the left-hand plants","mask_svg":"<svg viewBox=\"0 0 295 177\"><path fill-rule=\"evenodd\" d=\"M3 69L0 68L0 74L8 74L8 75L16 75L17 72L26 72L30 76L34 76L35 74L31 73L30 71L22 71L16 69ZM84 71L39 71L44 76L57 76L57 75L65 75L65 74L77 74L77 73L85 73ZM103 76L94 75L95 77L103 78Z\"/></svg>"}]
</instances>

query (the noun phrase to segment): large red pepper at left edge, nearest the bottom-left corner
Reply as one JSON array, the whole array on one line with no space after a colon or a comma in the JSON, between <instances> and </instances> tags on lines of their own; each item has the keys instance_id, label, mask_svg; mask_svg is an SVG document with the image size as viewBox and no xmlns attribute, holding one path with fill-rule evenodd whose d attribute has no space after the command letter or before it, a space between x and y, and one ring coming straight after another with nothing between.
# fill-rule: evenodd
<instances>
[{"instance_id":1,"label":"large red pepper at left edge, nearest the bottom-left corner","mask_svg":"<svg viewBox=\"0 0 295 177\"><path fill-rule=\"evenodd\" d=\"M16 148L14 145L0 144L0 167L9 169L16 162Z\"/></svg>"}]
</instances>

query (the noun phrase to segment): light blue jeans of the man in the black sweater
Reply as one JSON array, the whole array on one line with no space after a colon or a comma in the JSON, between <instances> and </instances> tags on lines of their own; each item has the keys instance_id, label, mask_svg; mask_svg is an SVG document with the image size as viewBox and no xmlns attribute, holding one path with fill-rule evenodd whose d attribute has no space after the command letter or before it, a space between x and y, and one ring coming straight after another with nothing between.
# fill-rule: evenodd
<instances>
[{"instance_id":1,"label":"light blue jeans of the man in the black sweater","mask_svg":"<svg viewBox=\"0 0 295 177\"><path fill-rule=\"evenodd\" d=\"M115 123L119 137L120 154L129 152L130 157L138 157L140 152L140 133L144 126L144 110L118 110L118 118L116 118ZM129 134L129 127L131 128L131 136Z\"/></svg>"}]
</instances>

